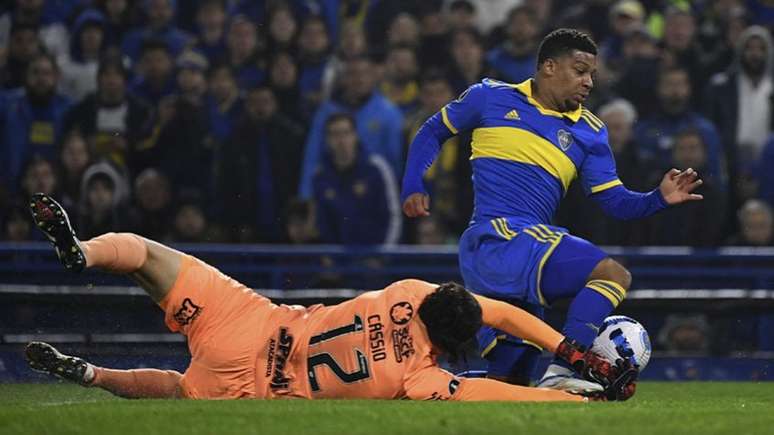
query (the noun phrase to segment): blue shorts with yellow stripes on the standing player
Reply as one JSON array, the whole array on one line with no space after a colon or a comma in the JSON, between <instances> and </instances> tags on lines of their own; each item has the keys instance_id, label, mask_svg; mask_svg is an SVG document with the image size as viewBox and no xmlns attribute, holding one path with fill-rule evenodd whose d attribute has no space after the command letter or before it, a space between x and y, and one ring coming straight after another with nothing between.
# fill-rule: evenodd
<instances>
[{"instance_id":1,"label":"blue shorts with yellow stripes on the standing player","mask_svg":"<svg viewBox=\"0 0 774 435\"><path fill-rule=\"evenodd\" d=\"M588 241L551 225L519 225L509 218L469 227L460 238L459 262L470 291L519 306L539 318L557 299L574 297L594 267L607 257ZM483 327L479 350L486 356L498 342L532 343Z\"/></svg>"}]
</instances>

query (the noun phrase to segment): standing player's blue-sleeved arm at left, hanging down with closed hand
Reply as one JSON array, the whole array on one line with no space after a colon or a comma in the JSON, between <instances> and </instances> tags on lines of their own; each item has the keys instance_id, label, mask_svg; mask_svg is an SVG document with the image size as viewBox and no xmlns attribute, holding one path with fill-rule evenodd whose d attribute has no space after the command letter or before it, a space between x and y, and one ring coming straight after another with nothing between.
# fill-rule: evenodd
<instances>
[{"instance_id":1,"label":"standing player's blue-sleeved arm at left, hanging down with closed hand","mask_svg":"<svg viewBox=\"0 0 774 435\"><path fill-rule=\"evenodd\" d=\"M469 130L479 123L485 102L484 85L473 85L422 124L409 146L406 171L403 175L401 203L406 216L430 214L430 198L422 176L441 151L441 144L458 132Z\"/></svg>"}]
</instances>

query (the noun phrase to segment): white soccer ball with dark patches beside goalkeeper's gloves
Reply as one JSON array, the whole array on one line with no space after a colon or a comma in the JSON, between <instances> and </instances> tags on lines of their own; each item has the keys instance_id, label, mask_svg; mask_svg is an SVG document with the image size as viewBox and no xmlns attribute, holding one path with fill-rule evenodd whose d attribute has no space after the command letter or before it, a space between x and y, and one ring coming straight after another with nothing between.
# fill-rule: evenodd
<instances>
[{"instance_id":1,"label":"white soccer ball with dark patches beside goalkeeper's gloves","mask_svg":"<svg viewBox=\"0 0 774 435\"><path fill-rule=\"evenodd\" d=\"M617 359L627 359L642 372L650 360L650 337L648 331L631 317L610 316L599 327L591 350L611 364Z\"/></svg>"}]
</instances>

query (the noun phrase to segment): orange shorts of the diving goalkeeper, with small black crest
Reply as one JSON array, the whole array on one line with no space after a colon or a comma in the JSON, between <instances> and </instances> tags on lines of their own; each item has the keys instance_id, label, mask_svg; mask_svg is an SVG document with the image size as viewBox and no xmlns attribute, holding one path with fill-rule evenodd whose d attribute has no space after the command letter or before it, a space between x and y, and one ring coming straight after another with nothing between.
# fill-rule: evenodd
<instances>
[{"instance_id":1,"label":"orange shorts of the diving goalkeeper, with small black crest","mask_svg":"<svg viewBox=\"0 0 774 435\"><path fill-rule=\"evenodd\" d=\"M169 329L188 338L191 364L181 381L185 397L256 397L256 359L275 332L269 319L276 305L189 255L159 305Z\"/></svg>"}]
</instances>

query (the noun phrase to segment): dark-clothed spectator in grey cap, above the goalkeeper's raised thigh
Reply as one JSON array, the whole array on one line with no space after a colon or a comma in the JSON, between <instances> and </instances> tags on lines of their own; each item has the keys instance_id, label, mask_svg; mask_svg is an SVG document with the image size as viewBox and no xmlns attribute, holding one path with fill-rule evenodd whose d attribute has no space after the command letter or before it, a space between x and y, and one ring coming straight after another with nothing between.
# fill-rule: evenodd
<instances>
[{"instance_id":1,"label":"dark-clothed spectator in grey cap, above the goalkeeper's raised thigh","mask_svg":"<svg viewBox=\"0 0 774 435\"><path fill-rule=\"evenodd\" d=\"M186 51L177 60L177 88L172 113L148 150L150 165L174 180L177 189L189 188L209 195L213 189L213 139L206 104L207 59ZM184 158L181 158L184 157Z\"/></svg>"}]
</instances>

